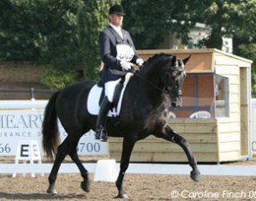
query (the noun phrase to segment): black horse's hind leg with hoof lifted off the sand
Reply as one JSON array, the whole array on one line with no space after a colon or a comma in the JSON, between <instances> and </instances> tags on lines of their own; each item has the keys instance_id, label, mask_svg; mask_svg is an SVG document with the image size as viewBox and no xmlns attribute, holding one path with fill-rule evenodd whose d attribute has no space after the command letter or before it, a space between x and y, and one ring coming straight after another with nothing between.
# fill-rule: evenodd
<instances>
[{"instance_id":1,"label":"black horse's hind leg with hoof lifted off the sand","mask_svg":"<svg viewBox=\"0 0 256 201\"><path fill-rule=\"evenodd\" d=\"M75 162L77 165L79 171L81 172L83 181L81 182L81 188L83 191L89 192L89 172L84 168L82 165L81 160L78 157L77 151L76 151L76 146L77 146L78 141L74 143L70 143L69 147L69 156L71 159ZM72 146L71 146L72 144Z\"/></svg>"}]
</instances>

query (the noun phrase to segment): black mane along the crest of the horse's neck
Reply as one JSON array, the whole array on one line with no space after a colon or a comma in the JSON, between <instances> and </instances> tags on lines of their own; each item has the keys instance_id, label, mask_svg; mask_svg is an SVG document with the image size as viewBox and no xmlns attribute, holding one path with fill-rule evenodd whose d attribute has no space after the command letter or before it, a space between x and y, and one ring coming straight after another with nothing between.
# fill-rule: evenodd
<instances>
[{"instance_id":1,"label":"black mane along the crest of the horse's neck","mask_svg":"<svg viewBox=\"0 0 256 201\"><path fill-rule=\"evenodd\" d=\"M167 66L167 64L173 62L175 59L176 57L174 55L166 53L155 54L149 57L146 62L144 62L141 68L141 74L145 75L150 72L154 72L155 68L157 68L157 70L159 70L159 68L164 68Z\"/></svg>"}]
</instances>

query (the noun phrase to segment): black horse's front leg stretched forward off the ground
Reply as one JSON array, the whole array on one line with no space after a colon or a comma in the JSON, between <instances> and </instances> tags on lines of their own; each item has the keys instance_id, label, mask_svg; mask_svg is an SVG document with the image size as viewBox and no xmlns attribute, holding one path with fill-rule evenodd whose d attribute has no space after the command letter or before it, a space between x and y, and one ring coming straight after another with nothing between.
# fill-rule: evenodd
<instances>
[{"instance_id":1,"label":"black horse's front leg stretched forward off the ground","mask_svg":"<svg viewBox=\"0 0 256 201\"><path fill-rule=\"evenodd\" d=\"M165 125L162 132L159 134L156 134L155 136L160 137L162 139L167 139L168 141L172 141L177 145L181 146L181 148L184 150L184 152L187 155L189 165L192 167L192 171L190 172L190 177L196 182L199 181L200 171L198 169L196 159L194 159L194 154L190 150L190 147L187 143L187 139L183 138L178 133L175 133L174 130L168 125Z\"/></svg>"}]
</instances>

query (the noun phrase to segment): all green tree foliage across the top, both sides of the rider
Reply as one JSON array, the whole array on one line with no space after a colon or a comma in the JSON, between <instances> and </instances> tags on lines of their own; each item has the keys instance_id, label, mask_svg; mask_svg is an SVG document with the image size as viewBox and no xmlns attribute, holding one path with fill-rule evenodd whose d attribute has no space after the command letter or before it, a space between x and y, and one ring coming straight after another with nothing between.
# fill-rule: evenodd
<instances>
[{"instance_id":1,"label":"all green tree foliage across the top, both sides of the rider","mask_svg":"<svg viewBox=\"0 0 256 201\"><path fill-rule=\"evenodd\" d=\"M97 79L98 35L114 3L123 5L124 29L137 49L157 49L170 30L187 44L194 24L205 23L212 32L200 45L220 49L221 37L233 36L234 54L255 61L246 52L256 43L256 0L1 0L0 61L43 65L43 83L50 88L62 86L56 84L58 79L63 86L75 81L77 69L86 79Z\"/></svg>"}]
</instances>

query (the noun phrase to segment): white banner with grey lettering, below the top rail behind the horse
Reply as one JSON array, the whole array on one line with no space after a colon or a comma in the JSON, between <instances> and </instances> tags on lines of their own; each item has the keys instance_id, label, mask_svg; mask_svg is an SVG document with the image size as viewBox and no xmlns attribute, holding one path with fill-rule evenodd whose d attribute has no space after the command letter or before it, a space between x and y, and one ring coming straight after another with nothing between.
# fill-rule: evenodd
<instances>
[{"instance_id":1,"label":"white banner with grey lettering, below the top rail behind the horse","mask_svg":"<svg viewBox=\"0 0 256 201\"><path fill-rule=\"evenodd\" d=\"M20 140L37 140L42 148L43 110L1 110L0 111L0 156L16 155ZM61 140L67 133L59 124ZM85 133L77 147L79 155L108 155L108 143L95 139L95 133Z\"/></svg>"}]
</instances>

